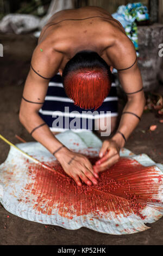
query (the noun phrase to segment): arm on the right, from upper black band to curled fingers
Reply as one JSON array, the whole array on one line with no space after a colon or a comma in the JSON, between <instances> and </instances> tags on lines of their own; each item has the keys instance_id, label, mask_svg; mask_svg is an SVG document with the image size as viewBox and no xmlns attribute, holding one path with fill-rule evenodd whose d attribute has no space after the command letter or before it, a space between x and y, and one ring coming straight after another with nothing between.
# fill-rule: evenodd
<instances>
[{"instance_id":1,"label":"arm on the right, from upper black band to curled fingers","mask_svg":"<svg viewBox=\"0 0 163 256\"><path fill-rule=\"evenodd\" d=\"M142 78L137 61L131 68L118 71L118 77L124 92L127 94L128 101L123 109L116 134L103 142L99 152L101 159L97 161L95 166L97 172L102 172L118 161L120 149L124 147L131 132L139 124L145 106Z\"/></svg>"}]
</instances>

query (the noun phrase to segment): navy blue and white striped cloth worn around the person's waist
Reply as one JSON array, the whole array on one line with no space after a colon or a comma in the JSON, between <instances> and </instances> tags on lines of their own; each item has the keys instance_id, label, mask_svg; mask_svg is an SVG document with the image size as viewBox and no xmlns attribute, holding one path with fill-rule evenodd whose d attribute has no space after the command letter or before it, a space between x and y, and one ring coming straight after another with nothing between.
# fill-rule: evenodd
<instances>
[{"instance_id":1,"label":"navy blue and white striped cloth worn around the person's waist","mask_svg":"<svg viewBox=\"0 0 163 256\"><path fill-rule=\"evenodd\" d=\"M58 73L49 82L45 102L39 114L52 132L93 130L95 119L118 115L117 101L116 87L113 82L108 97L96 111L75 106L73 100L67 97Z\"/></svg>"}]
</instances>

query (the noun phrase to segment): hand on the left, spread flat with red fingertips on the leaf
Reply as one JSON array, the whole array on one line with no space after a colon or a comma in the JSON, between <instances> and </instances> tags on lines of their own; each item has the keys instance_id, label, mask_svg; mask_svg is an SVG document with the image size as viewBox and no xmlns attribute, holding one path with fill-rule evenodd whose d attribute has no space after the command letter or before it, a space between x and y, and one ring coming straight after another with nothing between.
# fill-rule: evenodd
<instances>
[{"instance_id":1,"label":"hand on the left, spread flat with red fingertips on the leaf","mask_svg":"<svg viewBox=\"0 0 163 256\"><path fill-rule=\"evenodd\" d=\"M62 153L56 155L65 173L72 177L78 186L82 186L81 180L89 186L92 183L96 185L98 174L93 170L92 164L87 157L67 149L65 150L64 153L62 150Z\"/></svg>"}]
</instances>

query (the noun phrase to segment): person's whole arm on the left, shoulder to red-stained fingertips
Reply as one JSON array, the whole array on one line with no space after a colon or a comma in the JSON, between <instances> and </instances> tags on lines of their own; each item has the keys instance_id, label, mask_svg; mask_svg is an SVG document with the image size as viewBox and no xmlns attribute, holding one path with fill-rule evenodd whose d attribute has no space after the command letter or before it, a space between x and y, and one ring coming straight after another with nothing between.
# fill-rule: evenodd
<instances>
[{"instance_id":1,"label":"person's whole arm on the left, shoulder to red-stained fingertips","mask_svg":"<svg viewBox=\"0 0 163 256\"><path fill-rule=\"evenodd\" d=\"M40 51L40 48L42 51ZM60 53L46 50L39 45L36 47L32 58L20 108L20 121L37 142L40 142L61 163L65 172L81 186L80 179L87 185L97 183L97 174L94 174L90 161L83 155L77 154L62 147L62 144L54 137L48 125L39 115L47 93L49 77L57 74L61 62ZM96 178L95 178L96 176ZM80 179L79 179L80 178ZM92 181L92 182L91 182Z\"/></svg>"}]
</instances>

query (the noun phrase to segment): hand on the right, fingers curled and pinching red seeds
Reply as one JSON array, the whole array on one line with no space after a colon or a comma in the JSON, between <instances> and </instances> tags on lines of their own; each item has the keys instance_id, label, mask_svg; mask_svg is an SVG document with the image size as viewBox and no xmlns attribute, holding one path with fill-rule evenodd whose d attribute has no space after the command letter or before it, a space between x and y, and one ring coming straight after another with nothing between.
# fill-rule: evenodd
<instances>
[{"instance_id":1,"label":"hand on the right, fingers curled and pinching red seeds","mask_svg":"<svg viewBox=\"0 0 163 256\"><path fill-rule=\"evenodd\" d=\"M99 157L101 159L93 166L96 173L108 169L120 159L120 148L117 142L112 139L104 141L99 151Z\"/></svg>"}]
</instances>

